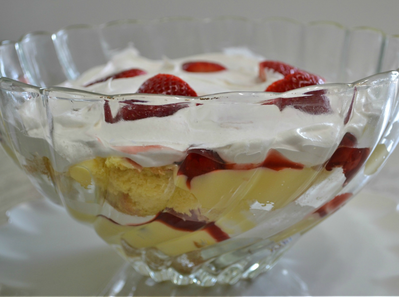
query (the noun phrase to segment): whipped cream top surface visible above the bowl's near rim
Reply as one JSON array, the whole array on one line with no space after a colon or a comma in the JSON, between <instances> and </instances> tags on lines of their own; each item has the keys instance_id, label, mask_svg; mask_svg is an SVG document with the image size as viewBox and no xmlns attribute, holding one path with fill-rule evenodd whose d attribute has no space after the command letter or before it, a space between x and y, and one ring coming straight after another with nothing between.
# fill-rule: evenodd
<instances>
[{"instance_id":1,"label":"whipped cream top surface visible above the bowl's near rim","mask_svg":"<svg viewBox=\"0 0 399 297\"><path fill-rule=\"evenodd\" d=\"M259 62L263 60L262 57L253 54L251 51L240 48L225 49L223 53L204 53L174 60L167 57L162 60L147 59L140 56L136 49L128 48L113 56L106 65L89 69L79 79L66 81L61 86L107 95L136 93L140 85L150 77L158 73L168 73L186 81L198 96L236 91L265 91L268 85L284 76L274 71L267 71L267 81L259 81ZM182 69L184 63L193 61L219 63L226 70L199 73ZM142 69L147 74L109 79L84 87L89 83L131 68Z\"/></svg>"}]
</instances>

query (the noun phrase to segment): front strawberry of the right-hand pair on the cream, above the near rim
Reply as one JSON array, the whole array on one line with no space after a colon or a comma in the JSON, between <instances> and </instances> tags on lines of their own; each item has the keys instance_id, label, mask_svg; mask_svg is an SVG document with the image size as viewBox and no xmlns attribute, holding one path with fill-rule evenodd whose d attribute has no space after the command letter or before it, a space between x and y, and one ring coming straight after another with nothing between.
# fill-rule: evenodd
<instances>
[{"instance_id":1,"label":"front strawberry of the right-hand pair on the cream, above the near rim","mask_svg":"<svg viewBox=\"0 0 399 297\"><path fill-rule=\"evenodd\" d=\"M320 85L323 83L324 79L318 75L310 74L305 71L296 71L269 85L265 92L284 93L293 89L308 87L310 85Z\"/></svg>"}]
</instances>

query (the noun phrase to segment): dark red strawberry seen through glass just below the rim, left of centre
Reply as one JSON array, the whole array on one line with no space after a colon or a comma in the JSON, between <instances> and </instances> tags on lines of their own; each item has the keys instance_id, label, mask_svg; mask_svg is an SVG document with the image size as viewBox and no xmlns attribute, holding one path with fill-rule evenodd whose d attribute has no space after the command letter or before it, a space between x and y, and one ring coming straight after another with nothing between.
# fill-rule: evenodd
<instances>
[{"instance_id":1,"label":"dark red strawberry seen through glass just below the rim, left of centre","mask_svg":"<svg viewBox=\"0 0 399 297\"><path fill-rule=\"evenodd\" d=\"M104 104L105 121L107 123L117 123L123 121L135 121L148 117L168 117L178 110L188 107L187 103L174 103L163 105L144 105L138 104L140 100L126 100L120 102L122 105L115 117L111 115L111 108L108 101Z\"/></svg>"}]
</instances>

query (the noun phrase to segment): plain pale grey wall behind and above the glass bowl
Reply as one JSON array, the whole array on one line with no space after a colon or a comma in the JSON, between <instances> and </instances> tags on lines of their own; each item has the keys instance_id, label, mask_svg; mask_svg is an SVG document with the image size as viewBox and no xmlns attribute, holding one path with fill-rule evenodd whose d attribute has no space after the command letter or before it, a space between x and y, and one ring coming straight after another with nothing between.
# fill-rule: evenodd
<instances>
[{"instance_id":1,"label":"plain pale grey wall behind and above the glass bowl","mask_svg":"<svg viewBox=\"0 0 399 297\"><path fill-rule=\"evenodd\" d=\"M71 24L166 16L247 18L283 16L301 22L332 20L399 34L399 0L0 0L0 41Z\"/></svg>"}]
</instances>

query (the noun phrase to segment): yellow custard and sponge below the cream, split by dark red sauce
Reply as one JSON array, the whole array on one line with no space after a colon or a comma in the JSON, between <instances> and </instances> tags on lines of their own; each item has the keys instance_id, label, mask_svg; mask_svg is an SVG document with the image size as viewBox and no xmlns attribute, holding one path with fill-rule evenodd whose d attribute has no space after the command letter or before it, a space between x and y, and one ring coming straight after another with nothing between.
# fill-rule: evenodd
<instances>
[{"instance_id":1,"label":"yellow custard and sponge below the cream, split by dark red sauce","mask_svg":"<svg viewBox=\"0 0 399 297\"><path fill-rule=\"evenodd\" d=\"M253 209L273 211L294 201L314 180L313 168L272 170L214 170L195 176L177 175L178 165L137 168L126 158L94 158L76 164L67 173L81 186L91 185L119 212L152 216L169 208L180 214L196 213L201 221L235 236L257 225ZM78 220L90 221L109 244L132 248L155 247L178 255L215 244L209 228L186 231L154 220L140 226L123 226L103 216L81 214L69 208ZM125 249L126 250L126 249Z\"/></svg>"}]
</instances>

